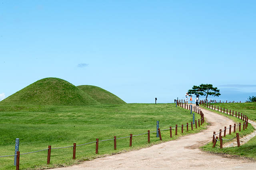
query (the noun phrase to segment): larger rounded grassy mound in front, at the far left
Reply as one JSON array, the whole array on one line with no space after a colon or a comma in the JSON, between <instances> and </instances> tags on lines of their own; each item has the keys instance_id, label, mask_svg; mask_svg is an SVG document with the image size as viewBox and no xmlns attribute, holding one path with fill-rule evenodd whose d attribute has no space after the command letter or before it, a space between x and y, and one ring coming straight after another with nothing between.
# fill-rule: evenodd
<instances>
[{"instance_id":1,"label":"larger rounded grassy mound in front, at the far left","mask_svg":"<svg viewBox=\"0 0 256 170\"><path fill-rule=\"evenodd\" d=\"M60 78L44 78L2 100L15 105L88 105L99 104L80 88Z\"/></svg>"}]
</instances>

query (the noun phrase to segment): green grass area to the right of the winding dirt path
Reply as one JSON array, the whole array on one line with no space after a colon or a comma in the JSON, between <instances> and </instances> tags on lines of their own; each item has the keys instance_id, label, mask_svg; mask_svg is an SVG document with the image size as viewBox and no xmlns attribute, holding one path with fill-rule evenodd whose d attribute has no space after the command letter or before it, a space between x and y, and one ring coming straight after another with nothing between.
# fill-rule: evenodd
<instances>
[{"instance_id":1,"label":"green grass area to the right of the winding dirt path","mask_svg":"<svg viewBox=\"0 0 256 170\"><path fill-rule=\"evenodd\" d=\"M219 107L224 107L227 109L231 109L234 111L239 111L240 113L243 113L244 115L247 115L249 119L256 120L256 102L251 103L228 103L228 104L214 104ZM207 108L206 108L207 109ZM212 110L212 109L210 109ZM212 110L213 111L213 110ZM220 113L217 112L216 113ZM227 115L225 113L220 113L226 117L229 117L233 119L235 122L241 122L241 119L238 119L236 117L232 117L230 115ZM239 136L247 135L251 133L254 130L254 128L248 124L248 129L246 131L239 132ZM234 133L232 135L228 135L226 139L230 139L234 137ZM225 153L225 154L233 154L238 156L245 156L249 158L256 159L256 137L253 137L248 143L241 145L240 147L229 147L229 148L222 148L220 149L220 145L218 142L218 145L216 145L215 148L212 148L212 143L208 143L204 147L202 147L203 150L210 151L213 153Z\"/></svg>"}]
</instances>

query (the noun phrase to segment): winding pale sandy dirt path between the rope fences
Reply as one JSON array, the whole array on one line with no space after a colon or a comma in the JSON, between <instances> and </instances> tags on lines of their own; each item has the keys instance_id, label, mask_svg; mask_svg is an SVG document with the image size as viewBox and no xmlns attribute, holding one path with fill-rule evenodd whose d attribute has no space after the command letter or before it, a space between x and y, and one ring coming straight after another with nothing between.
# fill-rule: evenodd
<instances>
[{"instance_id":1,"label":"winding pale sandy dirt path between the rope fences","mask_svg":"<svg viewBox=\"0 0 256 170\"><path fill-rule=\"evenodd\" d=\"M208 154L198 149L212 140L213 131L234 124L232 120L222 115L205 109L202 111L206 121L211 125L200 133L55 170L256 169L256 162Z\"/></svg>"}]
</instances>

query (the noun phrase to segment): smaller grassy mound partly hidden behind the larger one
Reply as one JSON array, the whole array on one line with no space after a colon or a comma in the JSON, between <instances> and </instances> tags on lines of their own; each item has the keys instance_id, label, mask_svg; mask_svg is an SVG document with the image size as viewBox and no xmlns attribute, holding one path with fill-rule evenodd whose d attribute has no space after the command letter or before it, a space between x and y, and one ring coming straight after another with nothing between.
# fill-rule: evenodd
<instances>
[{"instance_id":1,"label":"smaller grassy mound partly hidden behind the larger one","mask_svg":"<svg viewBox=\"0 0 256 170\"><path fill-rule=\"evenodd\" d=\"M101 104L126 104L126 102L116 95L100 87L90 85L81 85L77 87Z\"/></svg>"}]
</instances>

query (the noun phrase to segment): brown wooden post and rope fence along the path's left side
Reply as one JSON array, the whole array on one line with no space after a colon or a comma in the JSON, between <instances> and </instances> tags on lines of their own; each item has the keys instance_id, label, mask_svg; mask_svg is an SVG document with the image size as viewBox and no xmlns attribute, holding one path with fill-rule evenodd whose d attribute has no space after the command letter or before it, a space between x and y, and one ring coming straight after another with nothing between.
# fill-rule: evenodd
<instances>
[{"instance_id":1,"label":"brown wooden post and rope fence along the path's left side","mask_svg":"<svg viewBox=\"0 0 256 170\"><path fill-rule=\"evenodd\" d=\"M180 104L179 104L180 106ZM187 106L188 107L188 106ZM198 127L200 127L200 125L202 125L204 123L204 113L202 113L202 111L198 111L196 112L198 114L201 115L201 118L197 120L195 120L195 124L196 124L196 128L197 128L197 122L198 122ZM175 135L178 135L178 127L181 127L181 133L184 133L184 127L186 127L187 131L188 131L188 125L191 125L191 130L193 130L193 123L192 121L190 123L186 123L186 125L175 125L175 126L170 126L170 128L167 128L167 129L162 129L160 130L158 128L157 131L151 131L148 130L147 133L141 133L141 134L137 134L137 135L132 135L130 134L130 136L126 136L126 137L119 137L119 138L116 138L116 136L114 136L114 138L112 139L106 139L106 140L100 140L99 139L96 139L96 141L93 141L93 142L89 142L89 143L84 143L84 144L80 144L80 145L76 145L76 143L74 143L72 146L68 146L68 147L58 147L58 148L52 148L51 145L48 146L47 149L42 149L42 150L37 150L37 151L33 151L33 152L28 152L28 153L20 153L20 151L17 151L17 154L13 154L13 155L6 155L6 156L0 156L1 157L8 157L8 156L16 156L16 170L19 170L19 167L20 167L20 155L24 155L24 154L32 154L32 153L35 153L35 152L42 152L44 150L48 150L48 155L47 155L47 164L50 164L50 156L51 156L51 150L52 149L65 149L65 148L72 148L73 147L73 159L76 159L76 147L77 146L82 146L82 145L88 145L88 144L92 144L92 143L96 143L96 149L95 149L95 153L98 154L98 143L99 142L104 142L104 141L112 141L114 140L114 150L116 150L116 139L124 139L124 138L130 138L130 145L129 147L132 146L132 137L135 137L135 136L140 136L140 135L145 135L145 134L148 134L148 143L150 143L150 133L156 133L158 132L159 133L159 138L160 138L160 141L162 141L162 136L161 136L161 131L166 131L166 130L170 130L170 137L172 138L172 129L175 129Z\"/></svg>"}]
</instances>

